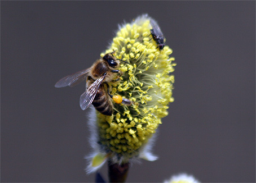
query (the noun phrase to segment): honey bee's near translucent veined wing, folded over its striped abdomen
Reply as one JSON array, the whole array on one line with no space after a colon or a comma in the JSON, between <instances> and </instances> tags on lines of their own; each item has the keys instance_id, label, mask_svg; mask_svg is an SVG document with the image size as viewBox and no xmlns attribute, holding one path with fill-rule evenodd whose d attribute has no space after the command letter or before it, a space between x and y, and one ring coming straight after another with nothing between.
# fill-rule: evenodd
<instances>
[{"instance_id":1,"label":"honey bee's near translucent veined wing, folded over its striped abdomen","mask_svg":"<svg viewBox=\"0 0 256 183\"><path fill-rule=\"evenodd\" d=\"M100 84L105 79L105 75L100 76L91 86L81 95L80 107L82 110L87 109L95 98L95 95L99 89Z\"/></svg>"}]
</instances>

